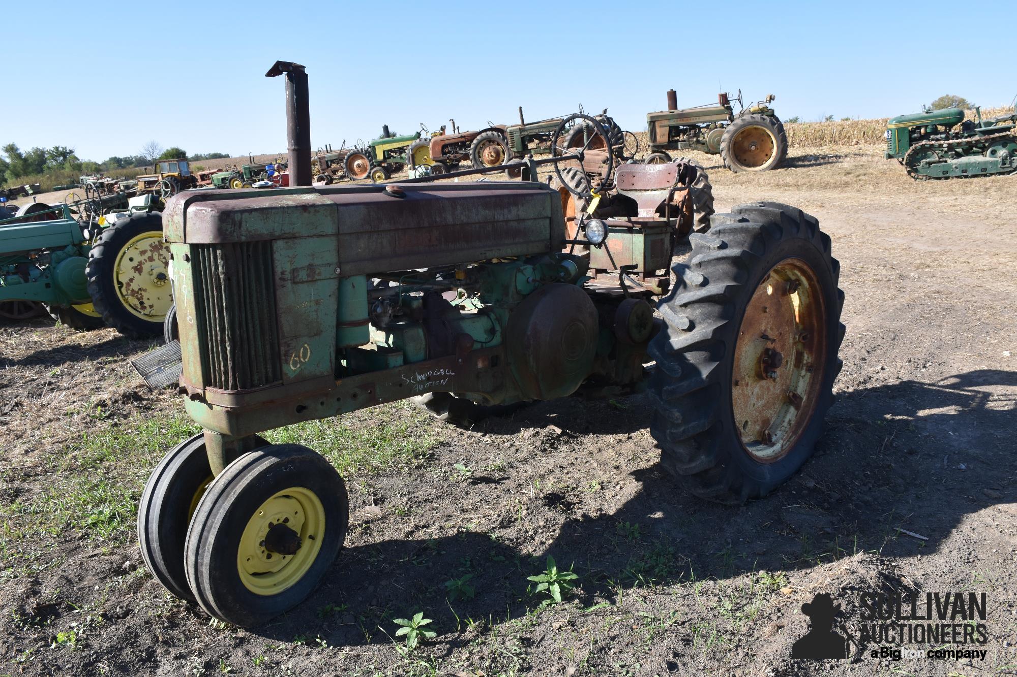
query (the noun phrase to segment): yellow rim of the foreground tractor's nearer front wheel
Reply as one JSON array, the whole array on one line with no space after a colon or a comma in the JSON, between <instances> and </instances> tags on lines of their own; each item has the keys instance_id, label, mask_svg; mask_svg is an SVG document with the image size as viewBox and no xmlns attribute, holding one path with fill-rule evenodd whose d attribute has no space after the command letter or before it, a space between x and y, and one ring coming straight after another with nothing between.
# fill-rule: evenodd
<instances>
[{"instance_id":1,"label":"yellow rim of the foreground tractor's nearer front wheel","mask_svg":"<svg viewBox=\"0 0 1017 677\"><path fill-rule=\"evenodd\" d=\"M284 489L261 503L244 528L237 550L240 580L255 595L282 593L307 573L323 540L320 499L303 487Z\"/></svg>"}]
</instances>

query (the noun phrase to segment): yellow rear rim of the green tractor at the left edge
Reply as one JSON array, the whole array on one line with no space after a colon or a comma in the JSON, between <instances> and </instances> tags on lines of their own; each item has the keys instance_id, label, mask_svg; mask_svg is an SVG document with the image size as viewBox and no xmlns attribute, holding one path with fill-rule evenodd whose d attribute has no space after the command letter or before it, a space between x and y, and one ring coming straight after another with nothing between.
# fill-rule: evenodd
<instances>
[{"instance_id":1,"label":"yellow rear rim of the green tractor at the left edge","mask_svg":"<svg viewBox=\"0 0 1017 677\"><path fill-rule=\"evenodd\" d=\"M166 317L173 305L167 268L169 248L161 231L134 236L117 252L113 282L120 303L149 322Z\"/></svg>"}]
</instances>

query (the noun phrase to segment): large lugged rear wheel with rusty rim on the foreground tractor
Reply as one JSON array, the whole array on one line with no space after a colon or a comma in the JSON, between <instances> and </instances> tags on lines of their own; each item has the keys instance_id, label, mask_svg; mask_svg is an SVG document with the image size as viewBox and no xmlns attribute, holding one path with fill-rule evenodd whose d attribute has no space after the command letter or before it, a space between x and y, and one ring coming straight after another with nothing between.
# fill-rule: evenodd
<instances>
[{"instance_id":1,"label":"large lugged rear wheel with rusty rim on the foreground tractor","mask_svg":"<svg viewBox=\"0 0 1017 677\"><path fill-rule=\"evenodd\" d=\"M650 431L691 493L766 495L816 448L844 337L840 265L813 217L776 202L714 214L658 304Z\"/></svg>"}]
</instances>

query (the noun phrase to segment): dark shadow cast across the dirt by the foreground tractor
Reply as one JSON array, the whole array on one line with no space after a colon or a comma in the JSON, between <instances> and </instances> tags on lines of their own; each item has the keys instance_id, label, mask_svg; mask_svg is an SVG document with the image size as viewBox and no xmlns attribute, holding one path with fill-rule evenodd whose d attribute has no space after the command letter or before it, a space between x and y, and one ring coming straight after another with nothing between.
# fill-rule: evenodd
<instances>
[{"instance_id":1,"label":"dark shadow cast across the dirt by the foreground tractor","mask_svg":"<svg viewBox=\"0 0 1017 677\"><path fill-rule=\"evenodd\" d=\"M531 497L528 519L536 527L517 530L513 539L536 542L542 524L557 530L535 555L473 531L428 538L425 529L420 538L351 547L310 600L255 632L285 640L317 633L332 645L387 642L379 625L394 633L393 618L423 611L442 632L461 632L441 644L451 652L473 638L466 619L497 623L537 605L527 576L544 569L547 555L580 574L583 606L613 603L619 590L650 580L804 569L859 551L928 555L965 515L1017 499L1014 388L1017 372L985 369L843 392L814 457L772 494L741 506L690 496L652 464L631 472L639 488L615 510L586 511L578 490ZM624 431L645 423L640 403L624 399L630 409L615 417L575 399L527 416L535 425L586 411L585 431ZM519 416L501 422L506 431L523 428ZM440 522L440 515L424 521ZM929 540L901 535L898 527ZM365 529L369 536L370 525ZM448 599L445 581L467 574L475 596Z\"/></svg>"}]
</instances>

